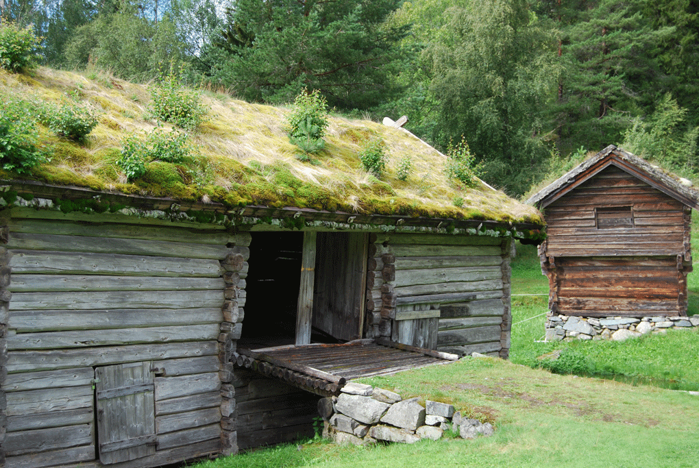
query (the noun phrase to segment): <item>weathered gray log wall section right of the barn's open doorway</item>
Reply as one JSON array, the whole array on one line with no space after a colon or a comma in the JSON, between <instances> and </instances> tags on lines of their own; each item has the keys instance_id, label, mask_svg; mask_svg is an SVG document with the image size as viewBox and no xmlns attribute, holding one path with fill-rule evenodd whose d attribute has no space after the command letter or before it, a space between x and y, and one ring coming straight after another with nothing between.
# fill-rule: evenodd
<instances>
[{"instance_id":1,"label":"weathered gray log wall section right of the barn's open doorway","mask_svg":"<svg viewBox=\"0 0 699 468\"><path fill-rule=\"evenodd\" d=\"M459 355L510 349L510 240L381 234L370 247L370 336Z\"/></svg>"}]
</instances>

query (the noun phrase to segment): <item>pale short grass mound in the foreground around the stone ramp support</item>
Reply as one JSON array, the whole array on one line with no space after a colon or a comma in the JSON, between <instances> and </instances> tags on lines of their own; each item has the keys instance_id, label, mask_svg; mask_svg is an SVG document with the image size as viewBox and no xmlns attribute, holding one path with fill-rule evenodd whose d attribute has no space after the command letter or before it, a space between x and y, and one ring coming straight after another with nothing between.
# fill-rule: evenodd
<instances>
[{"instance_id":1,"label":"pale short grass mound in the foreground around the stone ramp support","mask_svg":"<svg viewBox=\"0 0 699 468\"><path fill-rule=\"evenodd\" d=\"M197 468L695 467L699 397L551 374L494 358L367 379L404 397L452 402L493 421L493 437L412 446L320 441L254 451Z\"/></svg>"}]
</instances>

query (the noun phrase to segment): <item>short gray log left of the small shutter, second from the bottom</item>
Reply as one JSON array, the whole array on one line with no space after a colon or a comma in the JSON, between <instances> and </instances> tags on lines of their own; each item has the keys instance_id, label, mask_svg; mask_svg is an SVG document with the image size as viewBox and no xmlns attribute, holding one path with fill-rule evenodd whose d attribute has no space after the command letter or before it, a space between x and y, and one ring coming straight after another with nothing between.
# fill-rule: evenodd
<instances>
[{"instance_id":1,"label":"short gray log left of the small shutter, second from the bottom","mask_svg":"<svg viewBox=\"0 0 699 468\"><path fill-rule=\"evenodd\" d=\"M77 446L94 447L92 423L8 432L3 444L8 457Z\"/></svg>"}]
</instances>

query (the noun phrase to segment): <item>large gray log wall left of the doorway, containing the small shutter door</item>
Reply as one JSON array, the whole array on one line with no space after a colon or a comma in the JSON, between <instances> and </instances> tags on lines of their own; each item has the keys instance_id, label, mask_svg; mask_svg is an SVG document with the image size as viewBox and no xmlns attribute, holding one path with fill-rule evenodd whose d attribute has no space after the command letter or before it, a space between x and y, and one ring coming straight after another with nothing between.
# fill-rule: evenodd
<instances>
[{"instance_id":1,"label":"large gray log wall left of the doorway, containing the small shutter door","mask_svg":"<svg viewBox=\"0 0 699 468\"><path fill-rule=\"evenodd\" d=\"M250 235L38 217L13 211L0 270L6 466L235 452L229 359Z\"/></svg>"}]
</instances>

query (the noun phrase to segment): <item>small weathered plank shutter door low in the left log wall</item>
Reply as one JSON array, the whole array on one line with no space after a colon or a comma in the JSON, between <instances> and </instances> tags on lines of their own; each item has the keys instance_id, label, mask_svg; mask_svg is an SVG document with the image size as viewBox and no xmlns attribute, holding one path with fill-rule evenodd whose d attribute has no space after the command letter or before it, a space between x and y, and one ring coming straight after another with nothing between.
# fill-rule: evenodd
<instances>
[{"instance_id":1,"label":"small weathered plank shutter door low in the left log wall","mask_svg":"<svg viewBox=\"0 0 699 468\"><path fill-rule=\"evenodd\" d=\"M99 460L117 463L155 453L155 409L151 363L98 367Z\"/></svg>"}]
</instances>

